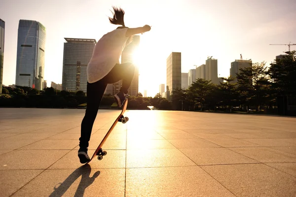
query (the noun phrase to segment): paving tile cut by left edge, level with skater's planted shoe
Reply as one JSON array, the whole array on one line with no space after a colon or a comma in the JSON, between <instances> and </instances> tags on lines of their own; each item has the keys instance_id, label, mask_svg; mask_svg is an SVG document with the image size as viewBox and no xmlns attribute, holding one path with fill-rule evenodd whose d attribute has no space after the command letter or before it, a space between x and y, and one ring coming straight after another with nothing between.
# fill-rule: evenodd
<instances>
[{"instance_id":1,"label":"paving tile cut by left edge, level with skater's planted shoe","mask_svg":"<svg viewBox=\"0 0 296 197\"><path fill-rule=\"evenodd\" d=\"M69 151L15 150L0 155L0 170L46 169Z\"/></svg>"}]
</instances>

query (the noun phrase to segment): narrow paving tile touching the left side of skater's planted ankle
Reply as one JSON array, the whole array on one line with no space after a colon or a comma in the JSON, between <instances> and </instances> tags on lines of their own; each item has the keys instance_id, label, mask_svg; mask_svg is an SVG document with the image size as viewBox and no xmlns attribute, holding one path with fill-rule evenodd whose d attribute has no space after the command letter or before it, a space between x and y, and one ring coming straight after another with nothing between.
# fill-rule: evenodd
<instances>
[{"instance_id":1,"label":"narrow paving tile touching the left side of skater's planted ankle","mask_svg":"<svg viewBox=\"0 0 296 197\"><path fill-rule=\"evenodd\" d=\"M23 150L72 150L79 144L76 140L40 140L28 146L22 147Z\"/></svg>"}]
</instances>

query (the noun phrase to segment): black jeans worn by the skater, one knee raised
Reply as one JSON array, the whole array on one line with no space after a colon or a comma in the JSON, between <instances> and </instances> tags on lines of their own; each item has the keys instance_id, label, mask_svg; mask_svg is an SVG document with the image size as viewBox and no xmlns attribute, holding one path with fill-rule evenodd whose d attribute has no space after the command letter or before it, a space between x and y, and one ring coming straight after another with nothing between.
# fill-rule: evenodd
<instances>
[{"instance_id":1,"label":"black jeans worn by the skater, one knee raised","mask_svg":"<svg viewBox=\"0 0 296 197\"><path fill-rule=\"evenodd\" d=\"M135 66L131 62L116 64L108 75L94 83L87 82L86 97L87 107L84 118L81 122L81 135L79 138L79 147L81 151L87 151L88 142L94 121L97 117L98 110L105 89L109 83L116 83L122 79L122 86L119 91L128 93L132 80L135 75Z\"/></svg>"}]
</instances>

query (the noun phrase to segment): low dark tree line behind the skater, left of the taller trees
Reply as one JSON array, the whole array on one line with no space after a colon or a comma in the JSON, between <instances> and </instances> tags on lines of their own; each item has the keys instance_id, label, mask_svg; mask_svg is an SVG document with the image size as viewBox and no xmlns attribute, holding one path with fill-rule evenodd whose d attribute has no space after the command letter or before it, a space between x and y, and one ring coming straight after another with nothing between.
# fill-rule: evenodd
<instances>
[{"instance_id":1,"label":"low dark tree line behind the skater, left of the taller trees","mask_svg":"<svg viewBox=\"0 0 296 197\"><path fill-rule=\"evenodd\" d=\"M112 108L114 97L104 95L101 108ZM85 108L86 95L83 91L76 92L57 90L47 87L39 91L27 86L2 87L0 107L36 107L36 108ZM161 110L170 110L170 102L162 98L160 94L155 97L143 97L141 93L129 97L128 109L149 110L148 106ZM114 106L116 108L116 106Z\"/></svg>"}]
</instances>

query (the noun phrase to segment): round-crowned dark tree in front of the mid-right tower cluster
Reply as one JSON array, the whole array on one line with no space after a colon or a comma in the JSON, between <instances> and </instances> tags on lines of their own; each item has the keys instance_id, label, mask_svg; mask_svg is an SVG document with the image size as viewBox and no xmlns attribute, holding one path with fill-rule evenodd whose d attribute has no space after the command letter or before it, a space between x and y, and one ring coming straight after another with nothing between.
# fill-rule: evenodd
<instances>
[{"instance_id":1,"label":"round-crowned dark tree in front of the mid-right tower cluster","mask_svg":"<svg viewBox=\"0 0 296 197\"><path fill-rule=\"evenodd\" d=\"M196 105L200 105L200 111L203 110L206 103L206 98L214 90L215 85L211 80L196 79L189 87L188 90L192 92L192 98Z\"/></svg>"}]
</instances>

